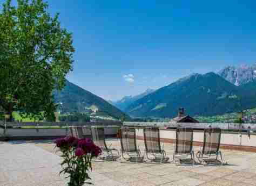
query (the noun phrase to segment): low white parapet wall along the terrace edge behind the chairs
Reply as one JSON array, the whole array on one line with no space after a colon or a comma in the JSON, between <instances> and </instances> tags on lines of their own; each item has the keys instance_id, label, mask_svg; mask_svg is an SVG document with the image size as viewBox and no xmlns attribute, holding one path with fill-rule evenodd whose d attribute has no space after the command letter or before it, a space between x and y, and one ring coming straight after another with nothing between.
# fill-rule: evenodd
<instances>
[{"instance_id":1,"label":"low white parapet wall along the terrace edge behind the chairs","mask_svg":"<svg viewBox=\"0 0 256 186\"><path fill-rule=\"evenodd\" d=\"M128 123L131 124L137 124L137 123ZM146 123L148 124L148 123ZM157 125L160 125L160 123L157 123ZM185 124L183 124L185 125ZM190 124L192 125L192 124ZM255 124L254 124L255 125ZM250 124L251 128L255 128L253 124ZM42 124L41 124L42 126ZM130 127L136 127L136 135L139 139L144 139L143 134L143 125L140 126L130 126ZM202 127L204 125L196 125L197 127ZM214 126L214 124L212 124ZM233 124L230 124L229 127ZM120 127L120 126L119 126ZM104 132L106 135L116 135L118 131L118 126L104 126ZM206 126L205 126L206 127ZM248 125L244 125L244 128L248 127ZM223 129L225 129L226 126L223 126ZM225 130L226 131L226 130ZM237 132L225 132L221 134L221 148L230 148L230 149L241 149L244 151L253 151L256 152L256 133L249 133L242 132L241 136ZM9 137L62 137L69 134L69 128L7 128L5 134ZM83 133L84 135L90 135L90 126L83 126ZM0 137L3 136L4 129L0 128ZM175 129L164 129L164 127L160 127L160 139L164 142L175 142L176 140L176 130ZM193 142L194 145L202 145L204 141L204 132L203 130L194 129L193 132Z\"/></svg>"}]
</instances>

